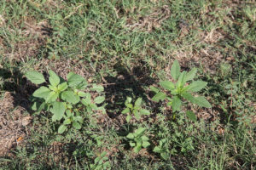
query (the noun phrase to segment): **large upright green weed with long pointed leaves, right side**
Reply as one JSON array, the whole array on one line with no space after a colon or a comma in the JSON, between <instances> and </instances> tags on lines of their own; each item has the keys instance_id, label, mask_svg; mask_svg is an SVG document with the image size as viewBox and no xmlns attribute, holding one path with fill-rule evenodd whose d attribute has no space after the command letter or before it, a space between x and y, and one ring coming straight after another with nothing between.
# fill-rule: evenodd
<instances>
[{"instance_id":1,"label":"large upright green weed with long pointed leaves, right side","mask_svg":"<svg viewBox=\"0 0 256 170\"><path fill-rule=\"evenodd\" d=\"M174 116L177 111L181 111L181 107L183 105L183 99L188 100L192 104L199 105L201 107L211 108L212 105L205 99L203 96L195 97L192 94L195 92L201 91L201 89L207 86L207 82L203 82L201 80L194 81L195 74L197 72L196 68L193 68L191 71L180 71L180 65L177 59L172 64L171 68L171 76L177 81L162 81L160 82L160 86L168 90L171 95L166 94L164 91L160 91L160 89L150 86L150 89L156 93L152 98L153 101L159 102L160 100L168 100L167 105L172 107L172 112ZM191 81L191 82L190 82ZM190 82L188 84L188 82ZM187 116L195 121L196 117L192 111L187 111Z\"/></svg>"}]
</instances>

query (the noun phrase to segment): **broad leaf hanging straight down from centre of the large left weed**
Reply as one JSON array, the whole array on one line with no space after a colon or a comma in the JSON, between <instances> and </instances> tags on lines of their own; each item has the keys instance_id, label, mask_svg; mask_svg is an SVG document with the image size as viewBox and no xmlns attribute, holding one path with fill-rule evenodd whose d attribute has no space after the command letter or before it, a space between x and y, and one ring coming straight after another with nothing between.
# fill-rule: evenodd
<instances>
[{"instance_id":1,"label":"broad leaf hanging straight down from centre of the large left weed","mask_svg":"<svg viewBox=\"0 0 256 170\"><path fill-rule=\"evenodd\" d=\"M55 101L52 105L51 112L54 114L52 116L52 121L55 122L60 121L61 118L64 116L65 112L65 105L63 102Z\"/></svg>"}]
</instances>

